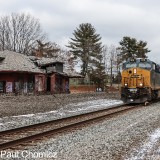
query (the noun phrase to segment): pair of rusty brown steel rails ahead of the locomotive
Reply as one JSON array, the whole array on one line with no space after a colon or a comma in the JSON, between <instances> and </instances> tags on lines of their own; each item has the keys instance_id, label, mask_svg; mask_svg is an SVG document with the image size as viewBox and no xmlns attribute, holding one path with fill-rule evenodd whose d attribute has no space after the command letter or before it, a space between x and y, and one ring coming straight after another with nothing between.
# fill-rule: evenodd
<instances>
[{"instance_id":1,"label":"pair of rusty brown steel rails ahead of the locomotive","mask_svg":"<svg viewBox=\"0 0 160 160\"><path fill-rule=\"evenodd\" d=\"M108 110L107 109L103 109L101 110L102 111L110 111L110 110L116 110L118 108L122 108L121 110L118 110L116 112L112 112L112 113L106 113L105 115L101 115L101 116L98 116L98 117L93 117L91 119L87 119L87 120L82 120L80 122L76 122L76 123L72 123L72 124L69 124L69 125L66 125L66 126L62 126L62 127L59 127L59 128L56 128L56 129L51 129L51 130L48 130L48 131L44 131L44 132L41 132L41 133L38 133L38 134L34 134L34 135L31 135L31 136L27 136L27 137L23 137L23 138L19 138L19 139L16 139L16 140L11 140L9 142L5 142L5 143L2 143L0 144L0 150L4 150L4 149L8 149L8 148L11 148L11 147L15 147L17 145L21 145L21 144L24 144L26 142L30 142L30 141L34 141L34 140L37 140L37 139L42 139L44 137L47 137L47 136L51 136L51 135L54 135L54 134L57 134L57 133L61 133L61 132L65 132L65 131L69 131L70 129L72 128L75 128L75 127L80 127L80 126L84 126L84 124L89 124L89 123L93 123L94 121L97 121L97 120L103 120L104 118L107 118L107 117L113 117L115 115L119 115L120 113L124 113L126 111L130 111L130 110L134 110L134 109L138 109L139 107L145 107L145 106L139 106L139 107L133 107L133 106L127 106L126 108L123 108L123 106L125 106L125 104L123 105L120 105L120 106L117 106L117 107L114 107L114 108L109 108ZM96 113L99 113L100 111L95 111ZM90 114L93 114L95 112L89 112L87 114L83 114L84 115L90 115ZM82 115L78 115L78 116L82 116ZM74 118L77 118L77 116L73 116ZM73 117L68 117L69 119L73 118ZM57 119L57 120L54 120L54 122L58 122L58 121L64 121L64 120L68 120L67 118L64 118L64 119ZM53 121L49 121L49 123L53 124ZM41 123L40 125L46 125L47 122L44 122L44 123ZM39 124L36 124L36 126L38 126ZM48 125L48 124L47 124ZM32 127L34 125L31 125ZM30 128L31 126L26 126L27 129ZM25 127L21 127L19 128L18 130L22 131L23 128L26 130ZM35 128L35 126L34 126ZM8 131L3 131L3 133L9 133L12 132L14 133L14 131L16 131L16 129L13 129L13 130L8 130ZM10 134L10 133L9 133Z\"/></svg>"}]
</instances>

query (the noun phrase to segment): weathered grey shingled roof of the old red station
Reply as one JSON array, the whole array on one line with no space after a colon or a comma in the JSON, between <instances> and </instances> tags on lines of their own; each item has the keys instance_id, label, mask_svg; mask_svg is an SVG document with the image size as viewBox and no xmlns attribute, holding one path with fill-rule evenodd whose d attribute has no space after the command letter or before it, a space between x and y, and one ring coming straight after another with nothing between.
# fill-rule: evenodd
<instances>
[{"instance_id":1,"label":"weathered grey shingled roof of the old red station","mask_svg":"<svg viewBox=\"0 0 160 160\"><path fill-rule=\"evenodd\" d=\"M0 51L0 72L28 72L28 73L43 73L46 74L42 66L54 63L64 63L60 58L44 58L35 56L26 56L13 51ZM75 71L68 70L64 67L63 72L57 74L70 78L83 78Z\"/></svg>"}]
</instances>

